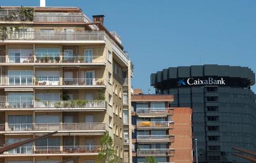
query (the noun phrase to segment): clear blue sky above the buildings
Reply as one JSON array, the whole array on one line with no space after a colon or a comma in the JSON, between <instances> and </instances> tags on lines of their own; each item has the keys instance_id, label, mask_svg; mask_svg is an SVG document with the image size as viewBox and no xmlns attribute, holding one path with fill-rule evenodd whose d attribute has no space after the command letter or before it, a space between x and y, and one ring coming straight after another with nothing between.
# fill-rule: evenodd
<instances>
[{"instance_id":1,"label":"clear blue sky above the buildings","mask_svg":"<svg viewBox=\"0 0 256 163\"><path fill-rule=\"evenodd\" d=\"M40 0L0 0L1 6L39 6ZM249 66L256 72L255 0L46 0L104 14L135 65L134 88L150 88L150 74L169 66ZM256 92L256 87L252 87ZM153 88L151 87L151 92Z\"/></svg>"}]
</instances>

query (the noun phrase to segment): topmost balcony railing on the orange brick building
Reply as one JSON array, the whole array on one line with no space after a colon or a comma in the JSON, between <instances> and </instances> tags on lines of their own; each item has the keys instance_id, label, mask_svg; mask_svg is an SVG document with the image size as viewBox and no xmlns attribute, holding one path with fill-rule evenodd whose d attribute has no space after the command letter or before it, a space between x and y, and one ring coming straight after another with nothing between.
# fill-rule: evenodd
<instances>
[{"instance_id":1,"label":"topmost balcony railing on the orange brick building","mask_svg":"<svg viewBox=\"0 0 256 163\"><path fill-rule=\"evenodd\" d=\"M170 108L137 108L137 114L169 114Z\"/></svg>"}]
</instances>

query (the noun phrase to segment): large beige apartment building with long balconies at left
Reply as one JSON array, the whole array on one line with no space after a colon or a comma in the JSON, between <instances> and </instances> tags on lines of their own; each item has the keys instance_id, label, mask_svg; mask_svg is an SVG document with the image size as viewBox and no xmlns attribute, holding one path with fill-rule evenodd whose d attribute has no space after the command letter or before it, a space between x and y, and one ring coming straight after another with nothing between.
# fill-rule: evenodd
<instances>
[{"instance_id":1,"label":"large beige apartment building with long balconies at left","mask_svg":"<svg viewBox=\"0 0 256 163\"><path fill-rule=\"evenodd\" d=\"M1 7L0 147L58 131L1 163L93 163L106 131L129 162L131 63L103 21L77 7Z\"/></svg>"}]
</instances>

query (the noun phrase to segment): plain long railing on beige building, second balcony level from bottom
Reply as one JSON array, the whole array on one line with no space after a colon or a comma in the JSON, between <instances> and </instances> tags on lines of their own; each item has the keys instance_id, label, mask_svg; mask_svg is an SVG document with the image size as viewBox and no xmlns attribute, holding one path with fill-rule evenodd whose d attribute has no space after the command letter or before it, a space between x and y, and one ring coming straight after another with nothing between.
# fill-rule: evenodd
<instances>
[{"instance_id":1,"label":"plain long railing on beige building, second balcony level from bottom","mask_svg":"<svg viewBox=\"0 0 256 163\"><path fill-rule=\"evenodd\" d=\"M1 124L4 125L4 124ZM1 126L0 125L0 126ZM7 124L6 131L106 130L105 123Z\"/></svg>"}]
</instances>

